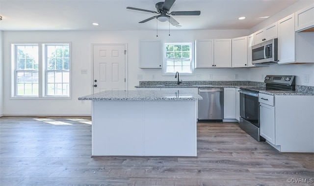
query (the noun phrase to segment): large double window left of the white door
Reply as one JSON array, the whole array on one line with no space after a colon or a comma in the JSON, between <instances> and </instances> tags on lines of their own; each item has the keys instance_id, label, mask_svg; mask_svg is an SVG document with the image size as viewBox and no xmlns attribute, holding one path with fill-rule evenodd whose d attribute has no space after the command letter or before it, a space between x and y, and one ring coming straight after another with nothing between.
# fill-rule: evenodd
<instances>
[{"instance_id":1,"label":"large double window left of the white door","mask_svg":"<svg viewBox=\"0 0 314 186\"><path fill-rule=\"evenodd\" d=\"M70 97L69 43L12 44L12 59L12 97Z\"/></svg>"}]
</instances>

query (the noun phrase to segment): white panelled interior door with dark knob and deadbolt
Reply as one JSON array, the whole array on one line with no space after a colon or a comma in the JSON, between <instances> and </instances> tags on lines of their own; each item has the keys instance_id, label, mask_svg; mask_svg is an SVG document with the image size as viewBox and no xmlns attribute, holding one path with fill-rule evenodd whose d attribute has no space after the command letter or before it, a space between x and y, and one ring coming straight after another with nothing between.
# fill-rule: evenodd
<instances>
[{"instance_id":1,"label":"white panelled interior door with dark knob and deadbolt","mask_svg":"<svg viewBox=\"0 0 314 186\"><path fill-rule=\"evenodd\" d=\"M94 45L93 93L126 90L126 45Z\"/></svg>"}]
</instances>

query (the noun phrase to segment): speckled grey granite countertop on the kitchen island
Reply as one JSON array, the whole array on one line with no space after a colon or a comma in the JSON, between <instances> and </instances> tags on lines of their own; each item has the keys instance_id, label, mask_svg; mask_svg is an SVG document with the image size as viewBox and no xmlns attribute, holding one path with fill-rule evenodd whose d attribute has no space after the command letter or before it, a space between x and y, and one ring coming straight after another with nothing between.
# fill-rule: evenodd
<instances>
[{"instance_id":1,"label":"speckled grey granite countertop on the kitchen island","mask_svg":"<svg viewBox=\"0 0 314 186\"><path fill-rule=\"evenodd\" d=\"M198 94L173 90L107 90L78 100L202 100Z\"/></svg>"}]
</instances>

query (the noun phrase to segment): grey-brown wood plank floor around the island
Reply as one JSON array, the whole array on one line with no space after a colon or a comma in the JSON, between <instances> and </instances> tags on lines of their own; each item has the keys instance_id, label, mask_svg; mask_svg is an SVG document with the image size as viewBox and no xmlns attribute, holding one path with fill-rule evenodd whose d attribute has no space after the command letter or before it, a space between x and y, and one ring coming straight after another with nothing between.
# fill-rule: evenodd
<instances>
[{"instance_id":1,"label":"grey-brown wood plank floor around the island","mask_svg":"<svg viewBox=\"0 0 314 186\"><path fill-rule=\"evenodd\" d=\"M279 153L237 123L198 123L197 158L91 158L91 140L89 117L1 117L0 186L314 185L314 154Z\"/></svg>"}]
</instances>

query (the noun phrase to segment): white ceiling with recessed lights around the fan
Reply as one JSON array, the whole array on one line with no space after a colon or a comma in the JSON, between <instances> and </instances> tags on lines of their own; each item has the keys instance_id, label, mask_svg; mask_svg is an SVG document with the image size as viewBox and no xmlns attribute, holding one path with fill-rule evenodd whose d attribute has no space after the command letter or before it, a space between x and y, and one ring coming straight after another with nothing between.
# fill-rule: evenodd
<instances>
[{"instance_id":1,"label":"white ceiling with recessed lights around the fan","mask_svg":"<svg viewBox=\"0 0 314 186\"><path fill-rule=\"evenodd\" d=\"M138 22L157 14L163 0L0 0L0 30L152 30L157 20ZM173 16L181 28L250 29L298 0L176 0L171 11L200 10L200 16ZM246 19L238 20L245 16ZM93 26L97 22L99 26ZM169 23L158 22L158 29Z\"/></svg>"}]
</instances>

